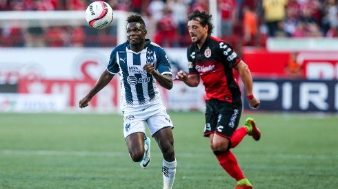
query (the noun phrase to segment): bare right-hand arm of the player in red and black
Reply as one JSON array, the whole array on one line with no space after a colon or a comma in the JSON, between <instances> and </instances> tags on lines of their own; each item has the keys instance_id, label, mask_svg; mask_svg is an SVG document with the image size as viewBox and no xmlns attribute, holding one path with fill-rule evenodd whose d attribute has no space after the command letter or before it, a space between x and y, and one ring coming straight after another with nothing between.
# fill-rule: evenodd
<instances>
[{"instance_id":1,"label":"bare right-hand arm of the player in red and black","mask_svg":"<svg viewBox=\"0 0 338 189\"><path fill-rule=\"evenodd\" d=\"M257 98L255 98L255 96L252 93L252 76L248 65L246 65L246 63L244 63L243 60L241 60L235 66L235 69L239 71L239 76L241 77L241 80L246 89L246 95L248 97L250 107L255 109L258 108L261 102Z\"/></svg>"}]
</instances>

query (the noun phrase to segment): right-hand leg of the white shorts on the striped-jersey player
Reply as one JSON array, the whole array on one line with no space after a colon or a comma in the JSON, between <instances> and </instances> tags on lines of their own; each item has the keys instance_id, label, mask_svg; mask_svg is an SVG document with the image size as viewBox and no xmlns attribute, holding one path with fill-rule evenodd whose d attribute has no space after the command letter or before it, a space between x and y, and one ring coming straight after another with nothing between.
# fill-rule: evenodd
<instances>
[{"instance_id":1,"label":"right-hand leg of the white shorts on the striped-jersey player","mask_svg":"<svg viewBox=\"0 0 338 189\"><path fill-rule=\"evenodd\" d=\"M174 127L170 116L168 115L168 113L166 113L166 111L160 111L158 113L155 113L154 115L150 116L148 120L146 120L146 122L152 136L154 136L155 133L163 128L170 127L171 129L173 129Z\"/></svg>"}]
</instances>

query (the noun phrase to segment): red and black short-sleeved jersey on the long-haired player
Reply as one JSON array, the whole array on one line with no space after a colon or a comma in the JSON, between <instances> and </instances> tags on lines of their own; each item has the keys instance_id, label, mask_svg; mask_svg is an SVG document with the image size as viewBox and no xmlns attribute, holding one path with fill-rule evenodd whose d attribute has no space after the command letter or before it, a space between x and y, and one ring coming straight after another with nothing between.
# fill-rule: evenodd
<instances>
[{"instance_id":1,"label":"red and black short-sleeved jersey on the long-haired player","mask_svg":"<svg viewBox=\"0 0 338 189\"><path fill-rule=\"evenodd\" d=\"M233 69L241 58L226 41L208 36L201 49L192 43L188 47L187 57L189 74L199 74L201 77L206 100L241 100L241 91Z\"/></svg>"}]
</instances>

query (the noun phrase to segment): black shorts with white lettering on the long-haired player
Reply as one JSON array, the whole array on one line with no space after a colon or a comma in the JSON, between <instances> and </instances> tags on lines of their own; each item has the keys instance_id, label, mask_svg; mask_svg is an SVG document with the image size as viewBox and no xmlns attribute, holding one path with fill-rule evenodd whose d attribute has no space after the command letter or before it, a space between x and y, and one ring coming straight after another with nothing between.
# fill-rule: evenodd
<instances>
[{"instance_id":1,"label":"black shorts with white lettering on the long-haired player","mask_svg":"<svg viewBox=\"0 0 338 189\"><path fill-rule=\"evenodd\" d=\"M203 135L208 137L216 133L223 137L232 137L241 119L241 102L229 103L212 99L206 101L206 126Z\"/></svg>"}]
</instances>

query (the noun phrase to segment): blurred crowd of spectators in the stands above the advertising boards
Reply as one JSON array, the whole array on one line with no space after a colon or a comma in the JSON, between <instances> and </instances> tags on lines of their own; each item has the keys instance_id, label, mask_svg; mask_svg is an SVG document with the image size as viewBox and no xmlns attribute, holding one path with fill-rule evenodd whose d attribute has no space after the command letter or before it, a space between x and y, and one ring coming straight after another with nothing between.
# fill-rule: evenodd
<instances>
[{"instance_id":1,"label":"blurred crowd of spectators in the stands above the advertising boards","mask_svg":"<svg viewBox=\"0 0 338 189\"><path fill-rule=\"evenodd\" d=\"M86 10L93 0L0 0L0 11ZM236 48L264 47L267 37L337 37L338 0L217 0L219 31ZM186 17L209 10L207 0L108 0L113 10L146 19L148 38L162 47L187 47ZM84 16L83 16L84 19ZM1 27L2 47L111 47L116 28L83 26Z\"/></svg>"}]
</instances>

